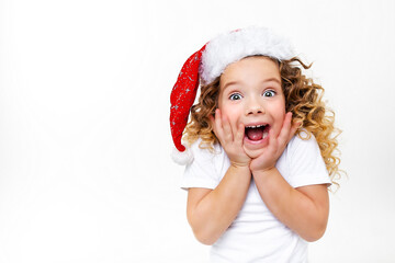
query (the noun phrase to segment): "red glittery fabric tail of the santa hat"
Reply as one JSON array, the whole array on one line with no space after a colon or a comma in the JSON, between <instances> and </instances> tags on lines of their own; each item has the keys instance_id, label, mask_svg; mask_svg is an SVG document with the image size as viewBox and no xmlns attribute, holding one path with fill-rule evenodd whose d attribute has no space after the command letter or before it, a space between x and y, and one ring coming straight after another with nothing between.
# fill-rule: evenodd
<instances>
[{"instance_id":1,"label":"red glittery fabric tail of the santa hat","mask_svg":"<svg viewBox=\"0 0 395 263\"><path fill-rule=\"evenodd\" d=\"M205 45L187 59L170 95L171 136L179 151L185 150L185 147L181 144L181 138L188 123L191 106L196 98L199 66L204 49Z\"/></svg>"}]
</instances>

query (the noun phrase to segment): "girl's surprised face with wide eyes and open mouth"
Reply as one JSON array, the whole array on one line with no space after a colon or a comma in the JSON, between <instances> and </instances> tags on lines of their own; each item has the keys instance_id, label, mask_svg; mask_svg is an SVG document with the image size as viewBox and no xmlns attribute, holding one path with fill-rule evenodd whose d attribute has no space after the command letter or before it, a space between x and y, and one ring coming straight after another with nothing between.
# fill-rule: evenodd
<instances>
[{"instance_id":1,"label":"girl's surprised face with wide eyes and open mouth","mask_svg":"<svg viewBox=\"0 0 395 263\"><path fill-rule=\"evenodd\" d=\"M256 158L278 136L285 117L279 66L267 57L248 57L229 65L219 81L218 107L233 128L246 127L244 149Z\"/></svg>"}]
</instances>

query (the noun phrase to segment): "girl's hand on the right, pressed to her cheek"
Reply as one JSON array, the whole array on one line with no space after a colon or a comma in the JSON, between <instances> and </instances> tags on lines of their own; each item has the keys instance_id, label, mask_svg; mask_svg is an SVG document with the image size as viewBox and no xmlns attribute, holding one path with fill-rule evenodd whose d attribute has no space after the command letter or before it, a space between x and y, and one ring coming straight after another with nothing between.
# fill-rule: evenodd
<instances>
[{"instance_id":1,"label":"girl's hand on the right, pressed to her cheek","mask_svg":"<svg viewBox=\"0 0 395 263\"><path fill-rule=\"evenodd\" d=\"M291 125L291 122L292 113L289 112L285 114L280 134L276 136L273 134L273 130L269 132L269 145L267 146L267 149L264 149L259 157L251 160L250 170L252 173L255 171L268 171L274 168L287 142L294 136L297 127L300 127L300 123Z\"/></svg>"}]
</instances>

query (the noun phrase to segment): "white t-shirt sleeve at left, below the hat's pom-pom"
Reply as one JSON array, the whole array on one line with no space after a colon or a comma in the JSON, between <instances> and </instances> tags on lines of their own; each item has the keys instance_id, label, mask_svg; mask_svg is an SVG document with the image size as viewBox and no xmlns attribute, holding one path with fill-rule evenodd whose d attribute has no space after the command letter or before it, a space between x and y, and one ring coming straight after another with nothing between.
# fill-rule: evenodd
<instances>
[{"instance_id":1,"label":"white t-shirt sleeve at left, below the hat's pom-pom","mask_svg":"<svg viewBox=\"0 0 395 263\"><path fill-rule=\"evenodd\" d=\"M181 188L183 190L192 187L214 190L221 181L214 164L215 156L208 149L199 148L200 141L195 141L190 148L193 161L185 167L181 178Z\"/></svg>"}]
</instances>

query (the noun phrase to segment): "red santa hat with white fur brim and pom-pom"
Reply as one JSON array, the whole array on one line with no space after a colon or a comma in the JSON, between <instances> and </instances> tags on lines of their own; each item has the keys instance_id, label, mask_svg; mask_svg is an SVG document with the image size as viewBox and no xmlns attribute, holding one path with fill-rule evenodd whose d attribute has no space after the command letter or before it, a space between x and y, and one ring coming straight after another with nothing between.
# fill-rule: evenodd
<instances>
[{"instance_id":1,"label":"red santa hat with white fur brim and pom-pom","mask_svg":"<svg viewBox=\"0 0 395 263\"><path fill-rule=\"evenodd\" d=\"M247 27L222 34L188 58L170 96L170 128L177 150L172 158L187 164L193 160L182 145L182 133L196 96L200 79L208 84L219 77L225 68L248 56L262 55L278 60L295 56L290 42L266 27Z\"/></svg>"}]
</instances>

